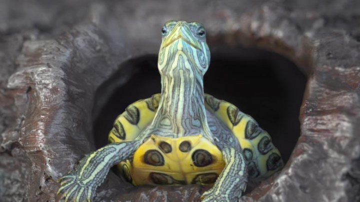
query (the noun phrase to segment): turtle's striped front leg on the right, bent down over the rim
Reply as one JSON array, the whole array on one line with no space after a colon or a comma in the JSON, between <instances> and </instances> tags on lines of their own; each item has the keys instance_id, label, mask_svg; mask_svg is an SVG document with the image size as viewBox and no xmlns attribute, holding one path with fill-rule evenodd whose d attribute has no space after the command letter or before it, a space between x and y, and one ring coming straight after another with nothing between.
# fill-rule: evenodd
<instances>
[{"instance_id":1,"label":"turtle's striped front leg on the right, bent down over the rim","mask_svg":"<svg viewBox=\"0 0 360 202\"><path fill-rule=\"evenodd\" d=\"M215 184L201 195L202 201L238 201L247 183L247 165L243 154L232 148L222 150L226 163Z\"/></svg>"}]
</instances>

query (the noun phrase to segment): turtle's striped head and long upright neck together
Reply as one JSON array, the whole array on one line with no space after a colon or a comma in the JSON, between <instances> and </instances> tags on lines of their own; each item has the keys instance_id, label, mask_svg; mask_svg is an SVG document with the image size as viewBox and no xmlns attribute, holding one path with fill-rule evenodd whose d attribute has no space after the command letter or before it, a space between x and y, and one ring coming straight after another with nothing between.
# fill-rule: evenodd
<instances>
[{"instance_id":1,"label":"turtle's striped head and long upright neck together","mask_svg":"<svg viewBox=\"0 0 360 202\"><path fill-rule=\"evenodd\" d=\"M148 131L171 137L201 133L212 140L202 86L210 62L205 30L198 22L185 21L168 21L162 30L157 62L161 98Z\"/></svg>"}]
</instances>

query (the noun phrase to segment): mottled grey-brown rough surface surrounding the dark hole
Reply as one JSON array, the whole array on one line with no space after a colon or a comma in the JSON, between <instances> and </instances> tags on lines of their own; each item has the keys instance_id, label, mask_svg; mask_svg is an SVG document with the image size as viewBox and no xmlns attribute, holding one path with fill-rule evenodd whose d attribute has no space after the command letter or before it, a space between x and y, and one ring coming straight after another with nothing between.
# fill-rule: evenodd
<instances>
[{"instance_id":1,"label":"mottled grey-brown rough surface surrounding the dark hole","mask_svg":"<svg viewBox=\"0 0 360 202\"><path fill-rule=\"evenodd\" d=\"M99 87L113 74L126 83L139 70L126 62L156 54L168 19L202 22L210 46L285 55L307 75L290 158L241 200L360 200L360 1L0 0L0 201L56 199L56 179L95 149L93 119L113 91ZM133 187L110 172L95 200L203 191Z\"/></svg>"}]
</instances>

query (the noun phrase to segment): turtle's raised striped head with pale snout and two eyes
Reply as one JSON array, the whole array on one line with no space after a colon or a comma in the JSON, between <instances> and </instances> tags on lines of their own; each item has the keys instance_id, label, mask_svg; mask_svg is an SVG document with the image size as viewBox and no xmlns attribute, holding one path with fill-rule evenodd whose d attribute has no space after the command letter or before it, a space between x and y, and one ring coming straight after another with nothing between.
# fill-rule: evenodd
<instances>
[{"instance_id":1,"label":"turtle's raised striped head with pale snout and two eyes","mask_svg":"<svg viewBox=\"0 0 360 202\"><path fill-rule=\"evenodd\" d=\"M172 71L175 68L193 72L192 75L205 74L210 63L210 51L201 23L167 21L161 29L161 34L162 42L158 55L160 74L173 75Z\"/></svg>"}]
</instances>

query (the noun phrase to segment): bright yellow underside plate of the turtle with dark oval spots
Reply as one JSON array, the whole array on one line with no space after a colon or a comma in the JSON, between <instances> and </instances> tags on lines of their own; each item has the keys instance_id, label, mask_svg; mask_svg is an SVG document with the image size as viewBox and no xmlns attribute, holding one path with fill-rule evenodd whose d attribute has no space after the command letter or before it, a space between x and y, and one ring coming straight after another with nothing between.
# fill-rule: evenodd
<instances>
[{"instance_id":1,"label":"bright yellow underside plate of the turtle with dark oval spots","mask_svg":"<svg viewBox=\"0 0 360 202\"><path fill-rule=\"evenodd\" d=\"M151 135L129 160L120 164L124 176L140 184L210 184L225 166L221 151L201 134L179 138Z\"/></svg>"}]
</instances>

